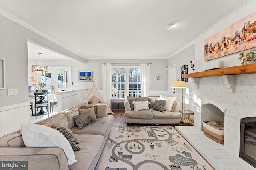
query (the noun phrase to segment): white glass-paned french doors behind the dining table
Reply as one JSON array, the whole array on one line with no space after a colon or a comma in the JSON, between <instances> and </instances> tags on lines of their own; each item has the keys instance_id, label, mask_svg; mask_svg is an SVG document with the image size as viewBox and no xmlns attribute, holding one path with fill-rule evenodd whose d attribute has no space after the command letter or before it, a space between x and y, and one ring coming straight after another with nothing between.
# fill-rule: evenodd
<instances>
[{"instance_id":1,"label":"white glass-paned french doors behind the dining table","mask_svg":"<svg viewBox=\"0 0 256 170\"><path fill-rule=\"evenodd\" d=\"M49 66L48 70L49 72L42 73L40 78L46 84L44 90L52 94L71 90L71 66Z\"/></svg>"}]
</instances>

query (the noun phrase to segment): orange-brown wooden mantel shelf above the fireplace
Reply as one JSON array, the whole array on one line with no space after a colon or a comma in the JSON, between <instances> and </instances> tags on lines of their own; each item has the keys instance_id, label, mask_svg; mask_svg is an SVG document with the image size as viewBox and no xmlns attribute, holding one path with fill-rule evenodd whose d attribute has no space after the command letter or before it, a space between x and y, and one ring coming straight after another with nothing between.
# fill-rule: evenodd
<instances>
[{"instance_id":1,"label":"orange-brown wooden mantel shelf above the fireplace","mask_svg":"<svg viewBox=\"0 0 256 170\"><path fill-rule=\"evenodd\" d=\"M220 68L220 69L216 69L216 70L195 72L195 73L190 73L190 74L184 74L183 76L184 76L184 78L188 78L188 77L210 77L210 76L252 74L252 73L256 73L256 63L228 67L228 68Z\"/></svg>"}]
</instances>

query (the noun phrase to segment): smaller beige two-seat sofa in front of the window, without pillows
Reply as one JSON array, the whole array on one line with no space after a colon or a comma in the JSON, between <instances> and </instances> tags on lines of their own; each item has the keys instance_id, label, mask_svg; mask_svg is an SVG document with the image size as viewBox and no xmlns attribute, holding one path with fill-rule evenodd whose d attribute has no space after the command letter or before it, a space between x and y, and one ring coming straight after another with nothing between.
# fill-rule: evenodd
<instances>
[{"instance_id":1,"label":"smaller beige two-seat sofa in front of the window, without pillows","mask_svg":"<svg viewBox=\"0 0 256 170\"><path fill-rule=\"evenodd\" d=\"M128 96L129 98L129 96ZM124 100L125 117L127 124L180 124L181 114L179 112L180 102L175 101L172 111L157 111L153 109L154 101L156 98L143 97L139 98L140 101L149 101L149 110L134 111L130 107L128 98Z\"/></svg>"}]
</instances>

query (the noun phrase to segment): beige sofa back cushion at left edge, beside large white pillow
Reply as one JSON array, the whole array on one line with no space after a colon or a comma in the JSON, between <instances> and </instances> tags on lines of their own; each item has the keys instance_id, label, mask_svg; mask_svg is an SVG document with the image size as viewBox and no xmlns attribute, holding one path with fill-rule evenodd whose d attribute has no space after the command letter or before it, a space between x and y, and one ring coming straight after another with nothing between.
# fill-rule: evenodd
<instances>
[{"instance_id":1,"label":"beige sofa back cushion at left edge, beside large white pillow","mask_svg":"<svg viewBox=\"0 0 256 170\"><path fill-rule=\"evenodd\" d=\"M0 138L0 147L25 147L21 133Z\"/></svg>"}]
</instances>

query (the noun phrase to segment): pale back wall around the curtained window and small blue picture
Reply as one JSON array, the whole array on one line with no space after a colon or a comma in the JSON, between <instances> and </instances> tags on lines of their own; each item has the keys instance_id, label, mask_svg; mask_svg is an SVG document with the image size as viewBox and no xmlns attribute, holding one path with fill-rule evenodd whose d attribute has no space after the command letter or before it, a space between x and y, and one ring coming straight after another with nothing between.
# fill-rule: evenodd
<instances>
[{"instance_id":1,"label":"pale back wall around the curtained window and small blue picture","mask_svg":"<svg viewBox=\"0 0 256 170\"><path fill-rule=\"evenodd\" d=\"M77 86L72 85L72 89L87 88L90 90L92 82L80 82L78 81L79 71L92 71L92 79L96 79L95 84L98 90L103 90L102 86L102 64L101 63L152 63L150 65L150 91L166 91L167 90L167 60L86 60L86 63L82 63L77 60L44 60L44 65L57 66L57 65L71 65L72 82L78 83ZM41 62L42 63L42 62ZM28 66L38 64L36 60L28 61ZM29 73L30 71L29 67ZM160 74L162 79L156 81L156 74ZM37 80L38 81L38 80ZM29 85L34 84L31 82ZM158 94L160 95L160 94Z\"/></svg>"}]
</instances>

